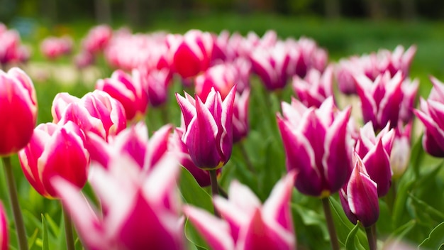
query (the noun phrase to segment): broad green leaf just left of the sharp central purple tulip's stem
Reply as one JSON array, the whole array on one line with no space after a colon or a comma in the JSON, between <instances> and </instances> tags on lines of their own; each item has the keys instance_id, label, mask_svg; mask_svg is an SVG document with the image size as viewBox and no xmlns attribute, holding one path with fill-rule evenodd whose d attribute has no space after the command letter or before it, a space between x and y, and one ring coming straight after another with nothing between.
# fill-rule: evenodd
<instances>
[{"instance_id":1,"label":"broad green leaf just left of the sharp central purple tulip's stem","mask_svg":"<svg viewBox=\"0 0 444 250\"><path fill-rule=\"evenodd\" d=\"M185 168L182 168L179 189L184 202L213 212L211 196L197 184L193 175Z\"/></svg>"}]
</instances>

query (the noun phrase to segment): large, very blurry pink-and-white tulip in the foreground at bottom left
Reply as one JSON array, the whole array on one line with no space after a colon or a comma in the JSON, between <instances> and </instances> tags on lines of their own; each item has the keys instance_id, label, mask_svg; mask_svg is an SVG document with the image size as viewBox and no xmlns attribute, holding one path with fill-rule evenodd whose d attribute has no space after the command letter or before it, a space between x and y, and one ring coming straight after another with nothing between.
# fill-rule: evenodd
<instances>
[{"instance_id":1,"label":"large, very blurry pink-and-white tulip in the foreground at bottom left","mask_svg":"<svg viewBox=\"0 0 444 250\"><path fill-rule=\"evenodd\" d=\"M108 169L91 166L91 186L101 210L62 178L53 185L70 212L86 249L184 249L183 219L177 194L179 166L165 158L146 173L126 156Z\"/></svg>"}]
</instances>

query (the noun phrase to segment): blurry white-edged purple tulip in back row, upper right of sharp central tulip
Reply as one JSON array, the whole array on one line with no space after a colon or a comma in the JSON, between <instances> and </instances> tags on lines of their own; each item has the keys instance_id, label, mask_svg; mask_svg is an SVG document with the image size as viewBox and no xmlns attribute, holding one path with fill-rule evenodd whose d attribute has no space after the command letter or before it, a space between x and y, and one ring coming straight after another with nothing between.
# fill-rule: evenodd
<instances>
[{"instance_id":1,"label":"blurry white-edged purple tulip in back row, upper right of sharp central tulip","mask_svg":"<svg viewBox=\"0 0 444 250\"><path fill-rule=\"evenodd\" d=\"M255 72L268 90L283 89L288 82L290 57L283 43L272 48L256 48L250 55Z\"/></svg>"}]
</instances>

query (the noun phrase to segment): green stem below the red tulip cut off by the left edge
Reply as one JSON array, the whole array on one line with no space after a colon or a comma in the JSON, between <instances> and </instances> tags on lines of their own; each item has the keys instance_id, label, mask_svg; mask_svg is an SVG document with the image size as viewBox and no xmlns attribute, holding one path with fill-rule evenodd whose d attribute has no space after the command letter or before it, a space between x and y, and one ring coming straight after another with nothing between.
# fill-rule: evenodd
<instances>
[{"instance_id":1,"label":"green stem below the red tulip cut off by the left edge","mask_svg":"<svg viewBox=\"0 0 444 250\"><path fill-rule=\"evenodd\" d=\"M18 237L19 249L28 249L28 241L26 238L25 224L23 223L23 217L21 215L20 204L18 203L18 195L16 188L16 180L12 172L11 156L2 158L3 165L6 173L6 183L8 185L9 199L11 201L14 221L16 222L16 230Z\"/></svg>"}]
</instances>

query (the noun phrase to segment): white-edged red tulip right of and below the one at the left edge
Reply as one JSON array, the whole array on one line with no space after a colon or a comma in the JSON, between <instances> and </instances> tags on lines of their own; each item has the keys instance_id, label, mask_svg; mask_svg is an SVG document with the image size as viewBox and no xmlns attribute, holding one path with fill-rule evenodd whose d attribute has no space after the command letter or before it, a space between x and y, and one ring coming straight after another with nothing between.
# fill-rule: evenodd
<instances>
[{"instance_id":1,"label":"white-edged red tulip right of and below the one at the left edge","mask_svg":"<svg viewBox=\"0 0 444 250\"><path fill-rule=\"evenodd\" d=\"M87 183L89 153L84 148L84 134L71 121L38 125L28 146L18 152L18 159L30 185L44 197L57 197L50 182L55 176L77 188Z\"/></svg>"}]
</instances>

